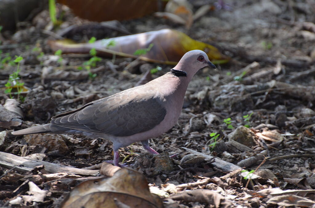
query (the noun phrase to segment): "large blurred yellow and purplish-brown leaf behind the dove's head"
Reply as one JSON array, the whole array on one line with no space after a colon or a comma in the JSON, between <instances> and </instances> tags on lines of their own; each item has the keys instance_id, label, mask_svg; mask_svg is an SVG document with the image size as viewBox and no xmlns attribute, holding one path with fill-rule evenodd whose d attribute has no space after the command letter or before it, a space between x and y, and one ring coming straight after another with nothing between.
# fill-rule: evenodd
<instances>
[{"instance_id":1,"label":"large blurred yellow and purplish-brown leaf behind the dove's head","mask_svg":"<svg viewBox=\"0 0 315 208\"><path fill-rule=\"evenodd\" d=\"M63 53L89 53L92 48L95 48L97 56L112 57L115 54L133 58L138 57L134 55L138 49L146 50L153 44L149 51L139 56L139 59L155 63L176 64L186 52L199 49L206 52L214 64L229 61L229 58L221 54L217 48L171 29L108 38L94 43L74 43L65 39L49 41L48 44L53 51L60 49Z\"/></svg>"}]
</instances>

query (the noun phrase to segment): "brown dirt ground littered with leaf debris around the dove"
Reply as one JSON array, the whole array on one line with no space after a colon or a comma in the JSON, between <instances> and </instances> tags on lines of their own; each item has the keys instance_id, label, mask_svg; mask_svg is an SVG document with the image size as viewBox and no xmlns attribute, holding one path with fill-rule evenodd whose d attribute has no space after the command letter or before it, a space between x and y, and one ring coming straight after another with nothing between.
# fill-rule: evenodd
<instances>
[{"instance_id":1,"label":"brown dirt ground littered with leaf debris around the dove","mask_svg":"<svg viewBox=\"0 0 315 208\"><path fill-rule=\"evenodd\" d=\"M209 1L190 2L196 11ZM150 141L159 153L177 153L177 156L172 159L163 154L160 158L152 156L140 143L135 143L120 149L120 161L124 159L131 169L144 174L151 192L162 200L195 189L212 190L223 196L218 204L214 202L218 196L213 192L213 195L196 192L192 199L168 198L163 200L168 208L315 207L315 1L226 0L224 3L228 8L210 10L195 20L189 30L153 15L120 21L131 34L164 28L179 30L231 57L228 63L218 64L217 70L204 68L194 76L178 124ZM70 25L89 23L65 6L58 8L65 13L60 28L51 30L53 34ZM2 33L1 60L15 55L24 58L20 63L20 79L30 91L19 104L23 117L14 120L18 124L13 120L9 126L1 124L0 130L7 134L1 136L4 141L0 151L20 157L44 154L44 161L69 167L100 164L112 159L112 144L107 140L76 134L15 137L9 133L48 123L54 115L134 87L146 69L162 68L152 75L154 79L173 66L139 61L126 70L134 59L117 57L112 63L112 58L102 58L95 68L105 67L96 70L94 79L86 74L48 79L47 74L61 70L82 72L73 66L82 66L90 58L88 54L63 54L61 62L58 61L60 57L56 58L47 44L56 36L43 30L49 21L46 10L14 34ZM88 41L95 33L70 34L69 38ZM109 30L105 36L117 35L123 34ZM0 103L4 105L10 97L3 89L17 66L8 63L2 66ZM215 145L211 145L213 133L220 134ZM184 158L186 155L189 156ZM240 171L227 175L236 169L226 167L221 161L255 170L257 178L245 179L246 174L241 175ZM41 171L44 167L26 171L10 170L13 166L4 163L0 166L0 206L4 207L60 207L66 194L88 177L69 173L48 179L43 177L49 174ZM47 191L44 201L27 201L22 197L24 202L9 203L31 195L27 193L30 181Z\"/></svg>"}]
</instances>

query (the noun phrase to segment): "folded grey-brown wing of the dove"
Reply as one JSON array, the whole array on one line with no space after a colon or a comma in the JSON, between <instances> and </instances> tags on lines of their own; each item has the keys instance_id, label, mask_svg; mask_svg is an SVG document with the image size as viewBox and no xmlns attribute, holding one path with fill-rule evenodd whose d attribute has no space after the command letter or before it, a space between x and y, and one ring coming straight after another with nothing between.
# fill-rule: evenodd
<instances>
[{"instance_id":1,"label":"folded grey-brown wing of the dove","mask_svg":"<svg viewBox=\"0 0 315 208\"><path fill-rule=\"evenodd\" d=\"M130 95L132 93L133 95ZM161 123L166 115L162 99L140 90L121 93L88 103L82 108L52 118L60 127L96 134L130 136Z\"/></svg>"}]
</instances>

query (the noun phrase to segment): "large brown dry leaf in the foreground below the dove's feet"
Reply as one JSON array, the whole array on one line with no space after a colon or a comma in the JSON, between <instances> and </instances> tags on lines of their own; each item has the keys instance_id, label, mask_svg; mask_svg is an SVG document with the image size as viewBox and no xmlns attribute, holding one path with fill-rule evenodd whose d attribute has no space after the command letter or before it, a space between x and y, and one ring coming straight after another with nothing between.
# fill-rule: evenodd
<instances>
[{"instance_id":1,"label":"large brown dry leaf in the foreground below the dove's feet","mask_svg":"<svg viewBox=\"0 0 315 208\"><path fill-rule=\"evenodd\" d=\"M151 194L146 177L122 168L110 178L84 181L63 201L62 208L162 208L160 198Z\"/></svg>"}]
</instances>

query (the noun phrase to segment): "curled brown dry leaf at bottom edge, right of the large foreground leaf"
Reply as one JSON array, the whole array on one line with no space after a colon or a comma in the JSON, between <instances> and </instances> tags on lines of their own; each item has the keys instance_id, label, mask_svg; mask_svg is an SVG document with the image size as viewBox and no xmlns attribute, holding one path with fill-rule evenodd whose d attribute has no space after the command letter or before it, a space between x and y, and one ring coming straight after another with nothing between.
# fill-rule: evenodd
<instances>
[{"instance_id":1,"label":"curled brown dry leaf at bottom edge, right of the large foreground leaf","mask_svg":"<svg viewBox=\"0 0 315 208\"><path fill-rule=\"evenodd\" d=\"M189 192L184 192L177 194L175 196L171 196L168 199L172 200L183 200L186 202L200 202L200 203L207 203L211 205L215 205L215 207L231 207L232 202L226 200L224 196L218 194L214 191L210 191L207 189L195 189Z\"/></svg>"}]
</instances>

